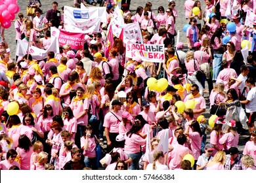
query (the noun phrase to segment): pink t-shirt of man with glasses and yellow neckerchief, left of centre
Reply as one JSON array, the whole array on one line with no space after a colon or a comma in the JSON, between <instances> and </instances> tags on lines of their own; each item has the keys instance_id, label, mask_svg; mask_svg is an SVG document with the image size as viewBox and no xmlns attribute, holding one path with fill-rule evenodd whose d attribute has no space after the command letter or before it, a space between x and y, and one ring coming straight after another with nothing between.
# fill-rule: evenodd
<instances>
[{"instance_id":1,"label":"pink t-shirt of man with glasses and yellow neckerchief, left of centre","mask_svg":"<svg viewBox=\"0 0 256 183\"><path fill-rule=\"evenodd\" d=\"M70 103L70 108L73 110L75 118L83 112L83 110L88 110L89 109L89 99L85 98L84 101L81 99L79 101L74 101L72 99ZM85 114L81 118L77 119L77 124L79 125L87 125L88 124L88 115Z\"/></svg>"}]
</instances>

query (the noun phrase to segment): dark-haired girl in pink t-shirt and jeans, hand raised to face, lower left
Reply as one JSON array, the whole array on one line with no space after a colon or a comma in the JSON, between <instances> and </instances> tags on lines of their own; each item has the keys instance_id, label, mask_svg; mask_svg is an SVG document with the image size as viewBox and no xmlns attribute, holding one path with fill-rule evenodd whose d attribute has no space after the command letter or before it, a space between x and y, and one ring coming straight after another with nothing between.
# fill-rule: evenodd
<instances>
[{"instance_id":1,"label":"dark-haired girl in pink t-shirt and jeans, hand raised to face, lower left","mask_svg":"<svg viewBox=\"0 0 256 183\"><path fill-rule=\"evenodd\" d=\"M96 167L96 142L97 139L93 133L93 127L91 125L85 126L85 133L81 137L81 148L83 149L83 155L85 156L85 167L92 167L93 170L98 169Z\"/></svg>"}]
</instances>

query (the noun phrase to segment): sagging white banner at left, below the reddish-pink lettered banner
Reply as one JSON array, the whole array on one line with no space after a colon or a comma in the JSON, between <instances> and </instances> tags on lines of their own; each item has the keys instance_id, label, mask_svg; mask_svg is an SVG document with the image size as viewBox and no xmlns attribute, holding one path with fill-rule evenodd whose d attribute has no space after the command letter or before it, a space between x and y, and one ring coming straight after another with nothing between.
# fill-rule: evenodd
<instances>
[{"instance_id":1,"label":"sagging white banner at left, below the reddish-pink lettered banner","mask_svg":"<svg viewBox=\"0 0 256 183\"><path fill-rule=\"evenodd\" d=\"M29 48L29 54L31 54L33 59L37 59L37 60L42 60L47 58L47 53L50 51L54 52L54 54L60 52L58 41L56 38L53 38L53 42L47 48L47 50L43 50L35 46L30 46ZM23 57L27 53L28 53L28 42L24 42L18 39L17 46L16 46L16 56Z\"/></svg>"}]
</instances>

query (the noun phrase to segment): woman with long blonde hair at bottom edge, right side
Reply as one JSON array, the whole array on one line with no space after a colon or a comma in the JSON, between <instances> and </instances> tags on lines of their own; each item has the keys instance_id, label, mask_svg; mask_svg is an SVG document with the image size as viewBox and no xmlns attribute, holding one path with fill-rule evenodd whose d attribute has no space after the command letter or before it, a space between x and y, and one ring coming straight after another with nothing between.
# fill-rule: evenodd
<instances>
[{"instance_id":1,"label":"woman with long blonde hair at bottom edge, right side","mask_svg":"<svg viewBox=\"0 0 256 183\"><path fill-rule=\"evenodd\" d=\"M213 159L207 163L206 170L224 170L224 163L226 160L226 154L224 151L219 150Z\"/></svg>"}]
</instances>

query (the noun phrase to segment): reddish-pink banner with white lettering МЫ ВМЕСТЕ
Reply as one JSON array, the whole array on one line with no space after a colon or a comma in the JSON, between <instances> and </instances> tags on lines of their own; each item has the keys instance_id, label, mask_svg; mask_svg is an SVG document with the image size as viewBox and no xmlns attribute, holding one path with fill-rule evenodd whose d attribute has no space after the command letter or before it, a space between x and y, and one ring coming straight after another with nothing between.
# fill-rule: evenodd
<instances>
[{"instance_id":1,"label":"reddish-pink banner with white lettering \u041c\u042b \u0412\u041c\u0415\u0421\u0422\u0415","mask_svg":"<svg viewBox=\"0 0 256 183\"><path fill-rule=\"evenodd\" d=\"M60 35L58 35L58 42L60 45L69 44L72 49L83 50L83 33L70 33L64 30L60 30Z\"/></svg>"}]
</instances>

